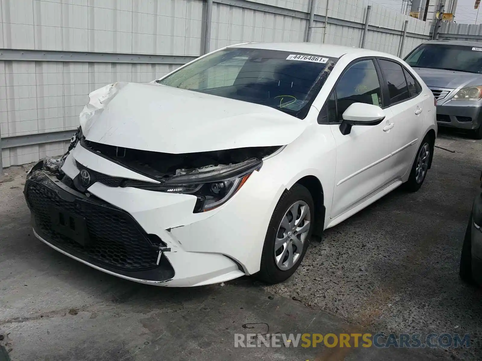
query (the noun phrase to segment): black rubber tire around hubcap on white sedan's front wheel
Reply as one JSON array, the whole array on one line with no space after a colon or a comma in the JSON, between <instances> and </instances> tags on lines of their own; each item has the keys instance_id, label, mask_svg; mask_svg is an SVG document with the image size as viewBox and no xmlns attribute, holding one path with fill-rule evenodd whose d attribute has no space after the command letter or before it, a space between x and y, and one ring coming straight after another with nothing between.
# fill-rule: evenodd
<instances>
[{"instance_id":1,"label":"black rubber tire around hubcap on white sedan's front wheel","mask_svg":"<svg viewBox=\"0 0 482 361\"><path fill-rule=\"evenodd\" d=\"M275 261L275 239L281 225L281 220L288 212L290 207L297 201L304 201L310 211L310 225L308 235L303 244L303 251L300 254L296 263L290 269L282 271ZM315 207L313 204L313 198L308 189L300 184L295 184L289 191L286 191L281 195L278 204L276 205L271 220L269 221L268 231L266 232L265 243L263 246L263 253L261 255L261 265L260 270L256 273L256 276L261 281L268 284L276 284L287 280L291 277L295 271L298 269L299 265L305 258L306 250L308 249L309 239L311 237L311 232L313 232L314 218L315 218Z\"/></svg>"}]
</instances>

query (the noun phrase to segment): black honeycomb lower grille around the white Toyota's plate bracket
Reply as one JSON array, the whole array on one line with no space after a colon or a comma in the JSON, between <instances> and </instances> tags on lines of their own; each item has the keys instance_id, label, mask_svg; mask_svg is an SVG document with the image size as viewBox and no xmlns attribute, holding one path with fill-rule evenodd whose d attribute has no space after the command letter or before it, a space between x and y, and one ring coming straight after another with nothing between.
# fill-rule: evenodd
<instances>
[{"instance_id":1,"label":"black honeycomb lower grille around the white Toyota's plate bracket","mask_svg":"<svg viewBox=\"0 0 482 361\"><path fill-rule=\"evenodd\" d=\"M52 183L47 177L30 180L25 193L35 227L49 242L69 254L116 270L143 271L157 267L159 244L151 242L128 213L103 201L82 199L70 193L65 196L69 200L63 199L58 191L47 186L48 182ZM80 245L53 229L52 206L85 219L89 245Z\"/></svg>"}]
</instances>

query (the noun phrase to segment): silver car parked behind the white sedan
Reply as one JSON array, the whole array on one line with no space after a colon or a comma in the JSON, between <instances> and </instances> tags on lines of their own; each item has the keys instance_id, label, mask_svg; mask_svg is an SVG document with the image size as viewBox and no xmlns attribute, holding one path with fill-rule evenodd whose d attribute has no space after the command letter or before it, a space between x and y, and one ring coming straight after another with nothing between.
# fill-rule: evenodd
<instances>
[{"instance_id":1,"label":"silver car parked behind the white sedan","mask_svg":"<svg viewBox=\"0 0 482 361\"><path fill-rule=\"evenodd\" d=\"M405 61L432 90L438 125L465 129L482 139L482 43L428 41Z\"/></svg>"}]
</instances>

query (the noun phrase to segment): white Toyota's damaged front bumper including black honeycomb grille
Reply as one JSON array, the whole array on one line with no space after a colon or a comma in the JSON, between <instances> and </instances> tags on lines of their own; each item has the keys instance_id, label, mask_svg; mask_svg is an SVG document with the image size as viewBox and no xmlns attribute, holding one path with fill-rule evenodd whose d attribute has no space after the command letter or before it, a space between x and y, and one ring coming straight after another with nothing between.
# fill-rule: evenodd
<instances>
[{"instance_id":1,"label":"white Toyota's damaged front bumper including black honeycomb grille","mask_svg":"<svg viewBox=\"0 0 482 361\"><path fill-rule=\"evenodd\" d=\"M82 164L106 176L142 178L80 144L62 167L66 178L78 178ZM274 188L272 179L254 172L240 191L242 196L236 194L209 212L193 213L193 195L101 181L84 194L39 162L27 175L25 196L35 235L67 256L139 283L196 286L259 271L266 227L283 190L281 184ZM80 234L59 232L59 223L68 225L71 216ZM159 247L165 250L160 252Z\"/></svg>"}]
</instances>

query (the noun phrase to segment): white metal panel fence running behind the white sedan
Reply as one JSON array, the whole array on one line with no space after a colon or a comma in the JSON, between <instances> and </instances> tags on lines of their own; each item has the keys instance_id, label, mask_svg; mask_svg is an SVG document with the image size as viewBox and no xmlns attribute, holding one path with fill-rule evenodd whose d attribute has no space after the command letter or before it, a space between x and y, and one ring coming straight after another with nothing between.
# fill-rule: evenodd
<instances>
[{"instance_id":1,"label":"white metal panel fence running behind the white sedan","mask_svg":"<svg viewBox=\"0 0 482 361\"><path fill-rule=\"evenodd\" d=\"M318 0L321 16L315 26L324 25L326 1ZM330 0L325 42L360 46L368 4ZM211 50L243 41L304 41L309 5L310 0L214 0ZM409 34L403 54L427 39L421 35L428 36L430 23L371 5L367 48L397 54L405 20ZM151 81L203 48L202 0L1 0L0 13L0 48L30 50L35 58L0 51L4 144L15 137L27 144L23 136L75 129L90 91L115 81ZM321 43L323 31L315 28L312 41ZM158 58L140 64L122 54ZM66 145L62 140L3 147L3 166L62 154Z\"/></svg>"}]
</instances>

